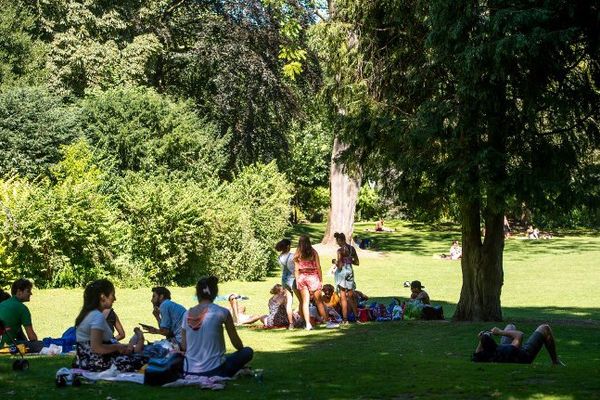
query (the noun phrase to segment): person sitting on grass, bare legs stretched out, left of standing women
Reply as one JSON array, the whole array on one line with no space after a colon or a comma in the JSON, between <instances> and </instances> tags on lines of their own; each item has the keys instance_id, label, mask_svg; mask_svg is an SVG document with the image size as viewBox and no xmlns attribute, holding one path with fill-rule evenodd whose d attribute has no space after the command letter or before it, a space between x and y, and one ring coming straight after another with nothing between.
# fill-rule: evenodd
<instances>
[{"instance_id":1,"label":"person sitting on grass, bare legs stretched out, left of standing women","mask_svg":"<svg viewBox=\"0 0 600 400\"><path fill-rule=\"evenodd\" d=\"M251 325L256 321L260 321L267 328L282 328L289 327L287 309L286 309L286 293L283 285L276 284L271 289L272 297L269 299L269 313L265 315L248 315L246 314L246 306L238 302L238 295L232 294L229 296L229 305L231 306L231 315L233 322L236 325ZM293 314L292 314L293 318ZM293 329L294 320L292 319Z\"/></svg>"}]
</instances>

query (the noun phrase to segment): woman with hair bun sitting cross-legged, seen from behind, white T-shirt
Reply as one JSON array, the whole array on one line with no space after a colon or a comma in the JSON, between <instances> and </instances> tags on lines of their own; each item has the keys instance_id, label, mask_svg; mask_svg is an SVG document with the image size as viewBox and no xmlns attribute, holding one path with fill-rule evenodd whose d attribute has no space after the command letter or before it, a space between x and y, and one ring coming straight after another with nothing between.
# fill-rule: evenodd
<instances>
[{"instance_id":1,"label":"woman with hair bun sitting cross-legged, seen from behind, white T-shirt","mask_svg":"<svg viewBox=\"0 0 600 400\"><path fill-rule=\"evenodd\" d=\"M186 374L232 377L250 360L254 352L244 347L228 309L213 303L219 292L215 276L202 278L196 285L198 305L183 315L181 348L185 351ZM223 326L236 352L225 355Z\"/></svg>"}]
</instances>

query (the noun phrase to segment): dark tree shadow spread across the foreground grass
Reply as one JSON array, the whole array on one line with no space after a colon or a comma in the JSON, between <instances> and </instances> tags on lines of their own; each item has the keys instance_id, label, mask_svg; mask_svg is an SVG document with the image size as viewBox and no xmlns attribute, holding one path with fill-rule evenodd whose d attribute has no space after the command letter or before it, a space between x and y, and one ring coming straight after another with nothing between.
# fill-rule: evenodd
<instances>
[{"instance_id":1,"label":"dark tree shadow spread across the foreground grass","mask_svg":"<svg viewBox=\"0 0 600 400\"><path fill-rule=\"evenodd\" d=\"M380 298L382 302L391 298ZM441 303L444 308L452 304ZM542 350L532 365L476 364L470 361L476 334L490 323L446 321L371 322L343 329L314 331L240 329L255 343L254 368L262 381L242 378L225 392L196 388L161 389L125 383L81 388L54 386L54 373L70 358L33 358L31 370L15 373L10 358L0 357L0 397L29 399L528 399L554 396L584 400L600 391L597 325L581 324L600 309L507 308L505 315L527 335L549 321L566 368L550 366ZM564 311L564 310L563 310ZM594 321L598 323L598 320ZM253 339L253 340L252 340ZM272 345L286 343L287 350ZM290 346L287 346L287 345ZM575 384L576 383L576 384Z\"/></svg>"}]
</instances>

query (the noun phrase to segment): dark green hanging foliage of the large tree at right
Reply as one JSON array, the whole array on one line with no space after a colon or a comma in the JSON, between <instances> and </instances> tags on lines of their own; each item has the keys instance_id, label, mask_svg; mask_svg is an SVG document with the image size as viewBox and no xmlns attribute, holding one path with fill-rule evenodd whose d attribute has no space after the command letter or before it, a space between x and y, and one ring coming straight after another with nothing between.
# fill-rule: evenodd
<instances>
[{"instance_id":1,"label":"dark green hanging foliage of the large tree at right","mask_svg":"<svg viewBox=\"0 0 600 400\"><path fill-rule=\"evenodd\" d=\"M434 214L460 198L483 214L597 208L599 13L568 1L336 2L314 43L330 105L345 111L347 161Z\"/></svg>"}]
</instances>

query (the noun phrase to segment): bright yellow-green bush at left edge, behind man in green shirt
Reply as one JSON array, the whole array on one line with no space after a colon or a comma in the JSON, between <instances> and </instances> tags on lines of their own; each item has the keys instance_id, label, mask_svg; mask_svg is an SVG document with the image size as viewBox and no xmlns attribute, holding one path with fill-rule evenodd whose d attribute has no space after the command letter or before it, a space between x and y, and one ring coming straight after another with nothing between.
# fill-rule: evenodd
<instances>
[{"instance_id":1,"label":"bright yellow-green bush at left edge, behind man in green shirt","mask_svg":"<svg viewBox=\"0 0 600 400\"><path fill-rule=\"evenodd\" d=\"M1 182L2 279L27 276L40 287L83 286L113 274L121 237L118 210L100 190L103 172L84 141L63 149L53 184L11 178Z\"/></svg>"}]
</instances>

